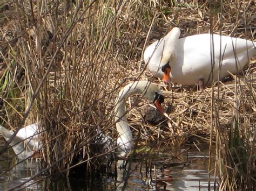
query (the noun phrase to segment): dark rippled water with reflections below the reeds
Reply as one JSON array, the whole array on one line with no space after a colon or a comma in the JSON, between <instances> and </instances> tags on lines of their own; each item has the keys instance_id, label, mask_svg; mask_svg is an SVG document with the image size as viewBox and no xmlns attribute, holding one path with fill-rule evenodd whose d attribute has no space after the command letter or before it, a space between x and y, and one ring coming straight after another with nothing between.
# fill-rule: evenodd
<instances>
[{"instance_id":1,"label":"dark rippled water with reflections below the reeds","mask_svg":"<svg viewBox=\"0 0 256 191\"><path fill-rule=\"evenodd\" d=\"M9 151L1 159L11 155L14 153ZM165 149L161 153L149 154L147 159L136 157L134 162L126 165L127 171L118 168L117 176L102 176L93 182L83 179L45 179L26 190L122 190L123 187L125 190L208 190L208 159L207 148L201 152L195 147L179 148L176 151ZM15 159L0 161L0 190L13 188L39 171L40 164L25 161L3 174L16 162ZM118 161L117 166L123 166L123 162ZM214 190L214 181L211 174L211 190Z\"/></svg>"}]
</instances>

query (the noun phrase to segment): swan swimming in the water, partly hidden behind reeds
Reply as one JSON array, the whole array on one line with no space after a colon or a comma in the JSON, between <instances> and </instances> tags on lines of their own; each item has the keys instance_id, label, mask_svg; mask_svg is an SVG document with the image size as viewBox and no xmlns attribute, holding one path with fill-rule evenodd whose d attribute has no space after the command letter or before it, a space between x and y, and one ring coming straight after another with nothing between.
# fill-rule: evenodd
<instances>
[{"instance_id":1,"label":"swan swimming in the water, partly hidden behind reeds","mask_svg":"<svg viewBox=\"0 0 256 191\"><path fill-rule=\"evenodd\" d=\"M132 147L132 132L127 119L125 117L125 100L127 97L133 94L143 94L147 99L152 101L156 105L157 109L163 113L161 108L161 103L164 102L164 96L161 94L161 91L157 87L157 84L151 83L149 81L135 81L122 90L120 90L116 106L114 108L116 128L118 132L117 146L119 147L118 152L120 157L124 157L126 153L131 150ZM38 124L31 124L22 128L18 131L16 137L12 140L10 145L12 146L15 154L18 158L25 159L30 157L35 151L39 148L39 136L38 136ZM7 141L12 132L5 129L0 125L0 132L3 134L3 137ZM102 134L102 133L101 133ZM102 136L102 143L105 143L107 146L111 146L111 138L105 135ZM26 139L26 140L24 140Z\"/></svg>"}]
</instances>

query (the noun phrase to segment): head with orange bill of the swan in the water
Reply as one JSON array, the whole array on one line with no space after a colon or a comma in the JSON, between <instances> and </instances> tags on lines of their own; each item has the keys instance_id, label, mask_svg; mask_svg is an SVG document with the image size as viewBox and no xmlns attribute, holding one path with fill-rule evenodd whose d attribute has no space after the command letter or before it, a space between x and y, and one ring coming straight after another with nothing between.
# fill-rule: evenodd
<instances>
[{"instance_id":1,"label":"head with orange bill of the swan in the water","mask_svg":"<svg viewBox=\"0 0 256 191\"><path fill-rule=\"evenodd\" d=\"M149 83L149 82L148 82ZM157 84L150 83L146 89L145 97L154 103L156 108L161 114L164 114L161 104L164 103L164 96L161 93L161 90L158 88Z\"/></svg>"}]
</instances>

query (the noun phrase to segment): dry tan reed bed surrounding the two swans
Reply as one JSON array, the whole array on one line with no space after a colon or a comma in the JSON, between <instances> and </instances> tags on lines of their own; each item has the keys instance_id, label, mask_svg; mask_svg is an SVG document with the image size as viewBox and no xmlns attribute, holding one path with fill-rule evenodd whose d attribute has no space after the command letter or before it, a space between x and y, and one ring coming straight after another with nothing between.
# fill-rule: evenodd
<instances>
[{"instance_id":1,"label":"dry tan reed bed surrounding the two swans","mask_svg":"<svg viewBox=\"0 0 256 191\"><path fill-rule=\"evenodd\" d=\"M141 97L129 99L127 118L139 146L206 142L210 155L216 153L209 172L219 177L220 189L255 188L255 60L240 75L203 91L166 86L142 60L145 47L173 26L180 27L181 37L214 32L253 39L253 4L5 1L1 124L14 129L41 123L44 169L37 175L75 175L70 169L83 165L78 174L90 178L110 152L100 149L97 130L117 137L113 107L120 88L148 79L163 89L171 120L149 124L145 113L151 105Z\"/></svg>"}]
</instances>

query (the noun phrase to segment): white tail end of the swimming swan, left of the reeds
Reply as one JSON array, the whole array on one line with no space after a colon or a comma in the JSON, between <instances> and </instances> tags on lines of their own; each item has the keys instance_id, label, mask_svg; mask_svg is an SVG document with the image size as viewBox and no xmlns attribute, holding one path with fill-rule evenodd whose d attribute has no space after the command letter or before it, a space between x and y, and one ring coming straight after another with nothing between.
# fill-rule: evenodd
<instances>
[{"instance_id":1,"label":"white tail end of the swimming swan, left of the reeds","mask_svg":"<svg viewBox=\"0 0 256 191\"><path fill-rule=\"evenodd\" d=\"M0 133L8 141L13 132L0 125ZM20 129L10 145L19 159L30 157L39 148L38 124L34 123Z\"/></svg>"}]
</instances>

